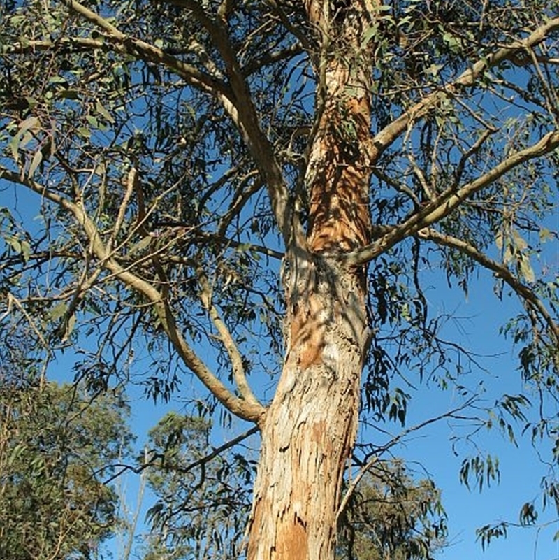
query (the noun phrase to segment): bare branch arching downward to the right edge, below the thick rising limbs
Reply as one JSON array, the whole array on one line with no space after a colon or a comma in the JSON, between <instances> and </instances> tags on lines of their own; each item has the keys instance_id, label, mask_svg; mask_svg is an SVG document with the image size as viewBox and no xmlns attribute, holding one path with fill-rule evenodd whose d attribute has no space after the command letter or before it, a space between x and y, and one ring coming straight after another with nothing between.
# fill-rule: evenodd
<instances>
[{"instance_id":1,"label":"bare branch arching downward to the right edge, below the thick rising limbs","mask_svg":"<svg viewBox=\"0 0 559 560\"><path fill-rule=\"evenodd\" d=\"M420 229L417 232L417 235L422 239L427 239L437 243L437 245L444 245L445 247L451 247L456 249L464 254L467 254L468 257L477 261L481 266L488 268L490 271L493 271L498 278L502 278L504 282L514 289L514 292L524 299L530 306L537 309L539 314L542 315L544 321L546 322L547 326L549 326L549 330L553 334L553 337L556 340L557 345L559 345L559 325L553 320L553 317L549 314L549 311L542 303L537 295L532 292L532 290L524 285L518 278L516 278L509 269L504 266L503 264L494 261L487 257L486 254L482 253L481 251L477 250L476 247L466 243L465 241L458 239L453 236L441 234L435 229L432 228L425 228Z\"/></svg>"}]
</instances>

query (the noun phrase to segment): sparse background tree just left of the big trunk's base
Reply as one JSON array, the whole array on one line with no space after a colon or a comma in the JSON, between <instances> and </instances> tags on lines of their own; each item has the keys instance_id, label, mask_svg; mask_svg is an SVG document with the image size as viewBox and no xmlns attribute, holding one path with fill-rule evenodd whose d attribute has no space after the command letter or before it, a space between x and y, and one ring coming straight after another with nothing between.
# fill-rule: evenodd
<instances>
[{"instance_id":1,"label":"sparse background tree just left of the big trunk's base","mask_svg":"<svg viewBox=\"0 0 559 560\"><path fill-rule=\"evenodd\" d=\"M210 447L210 429L170 412L150 431L144 466L157 502L147 512L145 560L240 557L254 460Z\"/></svg>"}]
</instances>

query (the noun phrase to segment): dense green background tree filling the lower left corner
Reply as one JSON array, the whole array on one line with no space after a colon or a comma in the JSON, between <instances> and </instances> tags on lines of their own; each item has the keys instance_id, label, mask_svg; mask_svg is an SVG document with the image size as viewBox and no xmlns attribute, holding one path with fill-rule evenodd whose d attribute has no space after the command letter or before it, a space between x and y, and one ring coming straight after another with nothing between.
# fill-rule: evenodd
<instances>
[{"instance_id":1,"label":"dense green background tree filling the lower left corner","mask_svg":"<svg viewBox=\"0 0 559 560\"><path fill-rule=\"evenodd\" d=\"M27 361L32 347L22 356L10 339L0 367L0 557L97 557L118 522L104 482L126 456L126 405L118 394L93 399L80 385L44 380Z\"/></svg>"}]
</instances>

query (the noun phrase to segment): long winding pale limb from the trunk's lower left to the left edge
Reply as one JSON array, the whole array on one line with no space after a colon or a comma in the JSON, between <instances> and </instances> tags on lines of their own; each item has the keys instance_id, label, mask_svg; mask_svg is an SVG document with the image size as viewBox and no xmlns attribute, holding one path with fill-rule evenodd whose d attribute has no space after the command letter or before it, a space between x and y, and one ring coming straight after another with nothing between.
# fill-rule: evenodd
<instances>
[{"instance_id":1,"label":"long winding pale limb from the trunk's lower left to the left edge","mask_svg":"<svg viewBox=\"0 0 559 560\"><path fill-rule=\"evenodd\" d=\"M170 308L168 301L162 296L161 292L150 284L150 282L139 278L129 270L123 268L117 260L110 255L106 245L101 240L101 236L99 236L99 231L96 225L92 222L91 218L89 218L89 216L85 213L85 210L83 210L80 205L69 201L64 198L64 196L51 192L48 188L43 187L43 185L38 184L34 180L22 178L17 173L9 171L3 166L0 166L0 179L1 178L24 185L25 187L31 189L31 191L36 192L37 194L43 196L43 198L56 203L61 208L64 208L64 210L72 213L76 222L80 224L89 238L92 251L99 261L101 261L100 266L103 266L103 268L112 273L115 278L118 278L118 280L123 282L124 285L140 294L143 294L143 296L152 303L154 312L161 322L162 328L175 348L177 354L179 354L180 358L189 370L194 373L194 375L203 382L216 399L222 403L224 407L233 412L233 414L250 422L258 421L265 411L263 406L260 404L255 405L253 403L248 403L247 401L240 399L238 396L235 396L208 369L180 333L180 330L175 323L173 310Z\"/></svg>"}]
</instances>

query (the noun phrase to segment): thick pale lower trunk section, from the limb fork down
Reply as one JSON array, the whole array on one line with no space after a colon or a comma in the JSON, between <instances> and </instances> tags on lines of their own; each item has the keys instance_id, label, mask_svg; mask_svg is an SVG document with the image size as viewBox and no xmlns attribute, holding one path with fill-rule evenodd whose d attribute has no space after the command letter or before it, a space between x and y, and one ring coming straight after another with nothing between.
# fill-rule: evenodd
<instances>
[{"instance_id":1,"label":"thick pale lower trunk section, from the limb fork down","mask_svg":"<svg viewBox=\"0 0 559 560\"><path fill-rule=\"evenodd\" d=\"M358 274L324 257L305 268L307 289L291 301L290 346L261 426L249 560L334 555L368 327Z\"/></svg>"}]
</instances>

